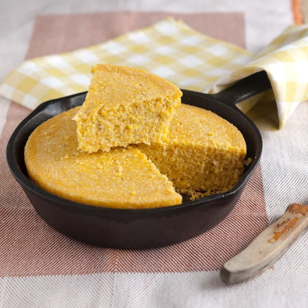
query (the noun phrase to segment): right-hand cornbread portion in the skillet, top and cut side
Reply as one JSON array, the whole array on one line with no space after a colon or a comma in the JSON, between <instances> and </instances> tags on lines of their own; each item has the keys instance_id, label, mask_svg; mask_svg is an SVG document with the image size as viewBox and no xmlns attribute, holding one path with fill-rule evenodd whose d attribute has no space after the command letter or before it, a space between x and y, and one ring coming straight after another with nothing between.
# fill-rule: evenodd
<instances>
[{"instance_id":1,"label":"right-hand cornbread portion in the skillet, top and cut side","mask_svg":"<svg viewBox=\"0 0 308 308\"><path fill-rule=\"evenodd\" d=\"M182 104L167 139L136 146L181 192L226 191L244 170L246 143L241 132L219 115Z\"/></svg>"}]
</instances>

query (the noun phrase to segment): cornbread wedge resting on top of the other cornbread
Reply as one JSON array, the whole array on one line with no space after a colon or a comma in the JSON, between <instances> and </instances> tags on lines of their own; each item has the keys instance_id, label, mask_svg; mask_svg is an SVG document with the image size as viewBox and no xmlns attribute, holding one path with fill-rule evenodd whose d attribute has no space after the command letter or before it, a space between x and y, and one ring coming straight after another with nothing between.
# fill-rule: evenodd
<instances>
[{"instance_id":1,"label":"cornbread wedge resting on top of the other cornbread","mask_svg":"<svg viewBox=\"0 0 308 308\"><path fill-rule=\"evenodd\" d=\"M96 152L111 147L161 141L182 92L142 70L98 64L92 68L86 100L74 117L79 149Z\"/></svg>"}]
</instances>

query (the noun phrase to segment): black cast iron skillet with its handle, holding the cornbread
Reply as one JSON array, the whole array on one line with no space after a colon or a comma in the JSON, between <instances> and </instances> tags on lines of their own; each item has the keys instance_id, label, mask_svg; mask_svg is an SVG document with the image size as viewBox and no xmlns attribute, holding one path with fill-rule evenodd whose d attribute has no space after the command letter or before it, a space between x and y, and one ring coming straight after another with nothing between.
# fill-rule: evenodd
<instances>
[{"instance_id":1,"label":"black cast iron skillet with its handle, holding the cornbread","mask_svg":"<svg viewBox=\"0 0 308 308\"><path fill-rule=\"evenodd\" d=\"M151 248L200 235L221 222L234 208L261 156L256 125L235 104L271 88L266 73L249 76L214 95L182 90L182 103L211 110L233 123L247 144L253 162L232 190L180 205L154 209L111 209L69 201L44 191L27 178L24 147L31 132L60 112L82 105L86 92L46 102L17 126L7 145L7 161L38 215L76 240L113 248Z\"/></svg>"}]
</instances>

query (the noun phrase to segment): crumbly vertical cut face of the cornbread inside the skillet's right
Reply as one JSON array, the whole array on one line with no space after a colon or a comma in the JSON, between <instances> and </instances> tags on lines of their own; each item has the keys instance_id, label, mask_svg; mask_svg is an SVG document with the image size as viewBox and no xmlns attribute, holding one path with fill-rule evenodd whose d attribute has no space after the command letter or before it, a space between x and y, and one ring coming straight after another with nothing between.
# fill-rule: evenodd
<instances>
[{"instance_id":1,"label":"crumbly vertical cut face of the cornbread inside the skillet's right","mask_svg":"<svg viewBox=\"0 0 308 308\"><path fill-rule=\"evenodd\" d=\"M246 153L234 148L204 147L198 144L139 145L138 148L157 166L160 172L186 193L195 191L224 192L233 187L244 170Z\"/></svg>"}]
</instances>

